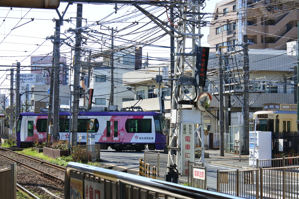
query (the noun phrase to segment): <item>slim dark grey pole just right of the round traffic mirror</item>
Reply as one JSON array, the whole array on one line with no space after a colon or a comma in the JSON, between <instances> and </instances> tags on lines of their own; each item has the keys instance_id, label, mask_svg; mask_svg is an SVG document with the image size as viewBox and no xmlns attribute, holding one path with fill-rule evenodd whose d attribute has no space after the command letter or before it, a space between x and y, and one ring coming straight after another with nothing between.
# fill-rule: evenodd
<instances>
[{"instance_id":1,"label":"slim dark grey pole just right of the round traffic mirror","mask_svg":"<svg viewBox=\"0 0 299 199\"><path fill-rule=\"evenodd\" d=\"M220 49L221 50L221 49ZM220 132L220 156L224 156L224 127L223 127L223 72L222 55L218 56L219 64L219 132Z\"/></svg>"}]
</instances>

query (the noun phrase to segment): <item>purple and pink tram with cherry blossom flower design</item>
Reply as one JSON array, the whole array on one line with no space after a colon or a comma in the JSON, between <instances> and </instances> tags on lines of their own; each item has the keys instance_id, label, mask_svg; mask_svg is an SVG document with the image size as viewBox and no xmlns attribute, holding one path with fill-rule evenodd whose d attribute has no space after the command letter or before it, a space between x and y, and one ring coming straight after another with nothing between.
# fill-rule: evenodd
<instances>
[{"instance_id":1,"label":"purple and pink tram with cherry blossom flower design","mask_svg":"<svg viewBox=\"0 0 299 199\"><path fill-rule=\"evenodd\" d=\"M33 142L46 141L47 137L46 114L33 112L20 113L17 121L17 146L26 148L32 146ZM101 149L109 146L117 151L136 150L142 151L148 145L149 150L164 149L167 144L167 135L162 129L166 127L163 114L159 112L146 111L124 111L124 112L80 112L78 115L78 143L86 143L87 124L94 119L89 135L94 134L95 143L101 144ZM68 140L69 112L59 114L60 140ZM79 135L80 140L79 140Z\"/></svg>"}]
</instances>

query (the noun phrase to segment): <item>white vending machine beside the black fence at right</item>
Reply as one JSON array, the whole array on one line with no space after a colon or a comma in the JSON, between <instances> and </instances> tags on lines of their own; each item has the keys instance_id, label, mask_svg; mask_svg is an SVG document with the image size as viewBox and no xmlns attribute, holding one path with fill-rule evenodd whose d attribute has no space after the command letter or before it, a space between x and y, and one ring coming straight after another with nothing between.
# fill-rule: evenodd
<instances>
[{"instance_id":1,"label":"white vending machine beside the black fence at right","mask_svg":"<svg viewBox=\"0 0 299 199\"><path fill-rule=\"evenodd\" d=\"M256 131L254 140L254 131L249 131L249 166L253 164L254 153L254 166L257 166L257 159L266 160L272 158L271 147L271 132L270 131ZM263 162L261 167L271 166L271 161Z\"/></svg>"}]
</instances>

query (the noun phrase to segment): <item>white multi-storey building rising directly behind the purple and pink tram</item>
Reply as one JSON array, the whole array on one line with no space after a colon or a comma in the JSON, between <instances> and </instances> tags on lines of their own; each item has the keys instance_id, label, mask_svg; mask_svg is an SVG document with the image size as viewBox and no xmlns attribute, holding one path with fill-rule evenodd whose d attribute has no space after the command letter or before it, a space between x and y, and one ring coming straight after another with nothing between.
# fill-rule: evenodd
<instances>
[{"instance_id":1,"label":"white multi-storey building rising directly behind the purple and pink tram","mask_svg":"<svg viewBox=\"0 0 299 199\"><path fill-rule=\"evenodd\" d=\"M111 104L111 67L113 64L113 105L118 106L118 110L123 107L123 102L134 100L134 93L127 90L123 85L123 73L135 71L142 68L142 49L139 47L114 46L113 62L111 59L111 49L93 55L90 62L92 75L90 75L89 87L94 89L92 106L108 107ZM82 70L85 70L84 68ZM80 84L86 87L83 81Z\"/></svg>"}]
</instances>

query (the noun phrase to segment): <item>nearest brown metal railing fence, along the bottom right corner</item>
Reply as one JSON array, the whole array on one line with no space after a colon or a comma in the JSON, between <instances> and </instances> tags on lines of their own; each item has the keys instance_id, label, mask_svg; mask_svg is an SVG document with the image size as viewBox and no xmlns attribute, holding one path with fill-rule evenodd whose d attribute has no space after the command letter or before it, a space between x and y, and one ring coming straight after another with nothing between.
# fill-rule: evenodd
<instances>
[{"instance_id":1,"label":"nearest brown metal railing fence, along the bottom right corner","mask_svg":"<svg viewBox=\"0 0 299 199\"><path fill-rule=\"evenodd\" d=\"M298 168L217 170L217 192L242 198L298 198Z\"/></svg>"}]
</instances>

